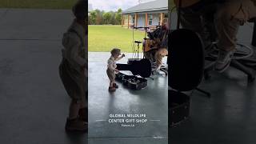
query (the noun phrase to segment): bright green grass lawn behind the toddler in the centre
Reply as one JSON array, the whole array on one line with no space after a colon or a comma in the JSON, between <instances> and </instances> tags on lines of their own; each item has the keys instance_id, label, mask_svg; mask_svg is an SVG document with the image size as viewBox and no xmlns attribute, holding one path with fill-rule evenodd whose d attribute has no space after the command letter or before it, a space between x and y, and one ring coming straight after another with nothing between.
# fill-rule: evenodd
<instances>
[{"instance_id":1,"label":"bright green grass lawn behind the toddler in the centre","mask_svg":"<svg viewBox=\"0 0 256 144\"><path fill-rule=\"evenodd\" d=\"M144 36L142 31L134 30L134 40L142 41ZM133 30L122 26L90 25L88 46L89 51L110 52L112 48L118 47L122 52L132 52ZM142 50L142 45L140 48Z\"/></svg>"}]
</instances>

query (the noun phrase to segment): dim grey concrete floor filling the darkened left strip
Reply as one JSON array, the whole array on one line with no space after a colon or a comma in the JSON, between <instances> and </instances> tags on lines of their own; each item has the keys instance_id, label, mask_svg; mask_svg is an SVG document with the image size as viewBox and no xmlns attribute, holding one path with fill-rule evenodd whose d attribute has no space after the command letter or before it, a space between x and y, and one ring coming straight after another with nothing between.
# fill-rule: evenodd
<instances>
[{"instance_id":1,"label":"dim grey concrete floor filling the darkened left strip","mask_svg":"<svg viewBox=\"0 0 256 144\"><path fill-rule=\"evenodd\" d=\"M69 10L0 9L0 143L85 144L64 130L69 96L58 76Z\"/></svg>"}]
</instances>

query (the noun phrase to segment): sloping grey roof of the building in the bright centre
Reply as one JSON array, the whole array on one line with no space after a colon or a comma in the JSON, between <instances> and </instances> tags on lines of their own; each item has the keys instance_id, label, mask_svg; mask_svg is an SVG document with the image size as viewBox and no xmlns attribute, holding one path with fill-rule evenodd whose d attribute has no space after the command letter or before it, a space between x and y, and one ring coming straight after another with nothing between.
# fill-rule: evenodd
<instances>
[{"instance_id":1,"label":"sloping grey roof of the building in the bright centre","mask_svg":"<svg viewBox=\"0 0 256 144\"><path fill-rule=\"evenodd\" d=\"M122 12L122 14L139 13L146 11L168 10L168 0L156 0L138 4Z\"/></svg>"}]
</instances>

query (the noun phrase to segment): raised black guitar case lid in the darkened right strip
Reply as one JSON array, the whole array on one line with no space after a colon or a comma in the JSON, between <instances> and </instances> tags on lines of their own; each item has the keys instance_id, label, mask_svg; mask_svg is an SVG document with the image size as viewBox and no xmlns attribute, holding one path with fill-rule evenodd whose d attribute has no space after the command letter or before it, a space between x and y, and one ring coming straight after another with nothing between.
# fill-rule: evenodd
<instances>
[{"instance_id":1,"label":"raised black guitar case lid in the darkened right strip","mask_svg":"<svg viewBox=\"0 0 256 144\"><path fill-rule=\"evenodd\" d=\"M178 91L194 90L202 81L204 49L192 30L174 30L169 35L168 82Z\"/></svg>"}]
</instances>

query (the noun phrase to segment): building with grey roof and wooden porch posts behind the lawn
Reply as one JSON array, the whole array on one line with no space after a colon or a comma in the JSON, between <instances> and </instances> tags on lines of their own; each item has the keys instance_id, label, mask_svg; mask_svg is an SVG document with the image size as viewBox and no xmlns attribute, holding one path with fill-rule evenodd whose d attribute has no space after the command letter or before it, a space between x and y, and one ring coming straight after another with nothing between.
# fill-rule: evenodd
<instances>
[{"instance_id":1,"label":"building with grey roof and wooden porch posts behind the lawn","mask_svg":"<svg viewBox=\"0 0 256 144\"><path fill-rule=\"evenodd\" d=\"M122 26L154 27L168 20L168 0L155 0L138 4L122 12Z\"/></svg>"}]
</instances>

